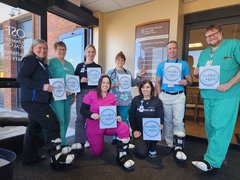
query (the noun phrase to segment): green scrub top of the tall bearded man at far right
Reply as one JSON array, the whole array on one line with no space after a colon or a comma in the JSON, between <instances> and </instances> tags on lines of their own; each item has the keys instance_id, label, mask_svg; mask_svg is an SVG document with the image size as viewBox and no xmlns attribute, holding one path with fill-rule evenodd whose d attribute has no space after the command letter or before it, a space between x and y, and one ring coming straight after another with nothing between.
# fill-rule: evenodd
<instances>
[{"instance_id":1,"label":"green scrub top of the tall bearded man at far right","mask_svg":"<svg viewBox=\"0 0 240 180\"><path fill-rule=\"evenodd\" d=\"M206 48L200 54L198 67L206 66L207 61L210 59L212 59L212 66L220 65L220 84L227 83L240 71L240 40L223 40L213 55L211 55L211 47ZM226 92L219 92L215 89L202 89L201 96L213 99L240 97L240 82Z\"/></svg>"}]
</instances>

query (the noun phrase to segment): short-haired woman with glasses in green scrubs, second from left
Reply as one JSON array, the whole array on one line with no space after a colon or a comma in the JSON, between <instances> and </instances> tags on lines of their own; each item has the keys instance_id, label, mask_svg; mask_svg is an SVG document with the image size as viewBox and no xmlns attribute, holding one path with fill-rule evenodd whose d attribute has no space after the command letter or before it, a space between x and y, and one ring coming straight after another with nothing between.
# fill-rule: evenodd
<instances>
[{"instance_id":1,"label":"short-haired woman with glasses in green scrubs, second from left","mask_svg":"<svg viewBox=\"0 0 240 180\"><path fill-rule=\"evenodd\" d=\"M49 72L51 78L64 78L66 83L66 74L74 75L73 65L66 61L66 44L62 41L54 44L55 57L49 60ZM57 115L60 124L60 134L62 145L66 145L66 132L70 121L71 104L74 101L75 95L66 92L67 99L53 101L52 108Z\"/></svg>"}]
</instances>

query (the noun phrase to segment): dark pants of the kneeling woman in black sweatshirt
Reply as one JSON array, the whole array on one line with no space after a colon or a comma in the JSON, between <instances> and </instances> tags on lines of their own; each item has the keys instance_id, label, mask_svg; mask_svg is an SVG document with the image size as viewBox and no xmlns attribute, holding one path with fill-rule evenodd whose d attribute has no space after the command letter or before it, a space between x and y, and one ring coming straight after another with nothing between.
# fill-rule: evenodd
<instances>
[{"instance_id":1,"label":"dark pants of the kneeling woman in black sweatshirt","mask_svg":"<svg viewBox=\"0 0 240 180\"><path fill-rule=\"evenodd\" d=\"M140 137L134 138L133 143L135 145L135 153L138 157L144 158L148 155L148 151L155 151L157 141L145 141L141 134Z\"/></svg>"}]
</instances>

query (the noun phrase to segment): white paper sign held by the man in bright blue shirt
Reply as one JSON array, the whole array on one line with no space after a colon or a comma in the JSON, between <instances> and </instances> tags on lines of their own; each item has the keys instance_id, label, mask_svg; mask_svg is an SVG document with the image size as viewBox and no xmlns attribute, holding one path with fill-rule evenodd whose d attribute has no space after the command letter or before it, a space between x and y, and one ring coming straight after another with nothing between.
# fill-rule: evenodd
<instances>
[{"instance_id":1,"label":"white paper sign held by the man in bright blue shirt","mask_svg":"<svg viewBox=\"0 0 240 180\"><path fill-rule=\"evenodd\" d=\"M179 84L181 80L182 64L180 63L165 63L164 65L164 84Z\"/></svg>"}]
</instances>

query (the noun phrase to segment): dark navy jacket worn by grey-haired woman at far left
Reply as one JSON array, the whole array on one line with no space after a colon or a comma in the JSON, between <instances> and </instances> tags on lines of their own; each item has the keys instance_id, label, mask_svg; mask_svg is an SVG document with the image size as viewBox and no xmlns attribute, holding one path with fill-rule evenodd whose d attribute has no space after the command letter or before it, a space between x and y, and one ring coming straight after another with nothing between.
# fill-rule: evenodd
<instances>
[{"instance_id":1,"label":"dark navy jacket worn by grey-haired woman at far left","mask_svg":"<svg viewBox=\"0 0 240 180\"><path fill-rule=\"evenodd\" d=\"M43 91L43 85L49 84L48 67L36 55L22 59L17 81L21 87L21 102L49 103L52 99L52 93Z\"/></svg>"}]
</instances>

